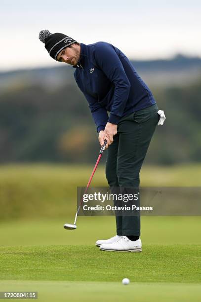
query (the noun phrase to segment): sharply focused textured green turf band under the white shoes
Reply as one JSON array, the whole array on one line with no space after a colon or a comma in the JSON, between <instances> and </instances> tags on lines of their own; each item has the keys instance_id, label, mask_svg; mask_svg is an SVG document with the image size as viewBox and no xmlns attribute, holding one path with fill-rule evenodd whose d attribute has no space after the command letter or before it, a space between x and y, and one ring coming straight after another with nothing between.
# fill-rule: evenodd
<instances>
[{"instance_id":1,"label":"sharply focused textured green turf band under the white shoes","mask_svg":"<svg viewBox=\"0 0 201 302\"><path fill-rule=\"evenodd\" d=\"M144 245L142 253L95 245L1 247L0 267L1 280L198 283L201 245Z\"/></svg>"}]
</instances>

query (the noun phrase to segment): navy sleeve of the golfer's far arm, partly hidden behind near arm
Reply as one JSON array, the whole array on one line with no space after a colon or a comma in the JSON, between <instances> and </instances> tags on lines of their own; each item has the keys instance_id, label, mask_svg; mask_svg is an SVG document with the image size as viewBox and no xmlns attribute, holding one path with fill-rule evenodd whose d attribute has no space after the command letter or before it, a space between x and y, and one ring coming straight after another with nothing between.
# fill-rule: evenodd
<instances>
[{"instance_id":1,"label":"navy sleeve of the golfer's far arm, partly hidden behind near arm","mask_svg":"<svg viewBox=\"0 0 201 302\"><path fill-rule=\"evenodd\" d=\"M104 130L105 126L108 122L108 112L105 108L101 107L98 104L98 101L93 98L91 95L83 92L86 100L88 101L89 108L91 111L91 114L93 116L93 120L97 127L97 132Z\"/></svg>"}]
</instances>

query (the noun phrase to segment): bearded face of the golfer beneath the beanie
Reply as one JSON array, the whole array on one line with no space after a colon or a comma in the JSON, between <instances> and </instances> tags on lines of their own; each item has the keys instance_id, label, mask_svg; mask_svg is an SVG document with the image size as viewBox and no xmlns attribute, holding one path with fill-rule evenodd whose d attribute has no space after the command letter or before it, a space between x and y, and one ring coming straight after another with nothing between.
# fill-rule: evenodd
<instances>
[{"instance_id":1,"label":"bearded face of the golfer beneath the beanie","mask_svg":"<svg viewBox=\"0 0 201 302\"><path fill-rule=\"evenodd\" d=\"M76 45L76 44L72 44L71 47L66 47L62 49L57 55L58 61L68 63L70 65L77 65L79 58L80 58L80 45Z\"/></svg>"}]
</instances>

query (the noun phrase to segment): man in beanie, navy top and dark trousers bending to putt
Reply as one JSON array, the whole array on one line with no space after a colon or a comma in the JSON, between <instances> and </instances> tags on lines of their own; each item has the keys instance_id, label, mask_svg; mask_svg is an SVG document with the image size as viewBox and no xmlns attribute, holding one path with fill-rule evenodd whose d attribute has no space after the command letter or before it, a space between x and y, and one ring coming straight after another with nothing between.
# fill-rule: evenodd
<instances>
[{"instance_id":1,"label":"man in beanie, navy top and dark trousers bending to putt","mask_svg":"<svg viewBox=\"0 0 201 302\"><path fill-rule=\"evenodd\" d=\"M86 45L48 30L40 31L39 38L54 60L76 69L74 77L88 102L100 145L107 140L111 190L138 191L140 169L160 118L152 92L129 59L108 42ZM116 225L117 235L96 245L105 251L141 252L140 215L116 214Z\"/></svg>"}]
</instances>

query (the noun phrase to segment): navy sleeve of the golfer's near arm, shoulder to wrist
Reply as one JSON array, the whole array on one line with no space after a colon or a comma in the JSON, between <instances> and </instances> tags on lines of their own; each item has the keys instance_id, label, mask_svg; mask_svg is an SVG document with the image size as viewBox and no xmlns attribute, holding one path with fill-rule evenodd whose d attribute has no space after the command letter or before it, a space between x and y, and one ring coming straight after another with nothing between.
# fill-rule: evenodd
<instances>
[{"instance_id":1,"label":"navy sleeve of the golfer's near arm, shoulder to wrist","mask_svg":"<svg viewBox=\"0 0 201 302\"><path fill-rule=\"evenodd\" d=\"M115 85L114 102L108 121L112 124L118 124L129 96L130 82L124 72L121 60L111 44L98 42L94 47L94 59Z\"/></svg>"}]
</instances>

